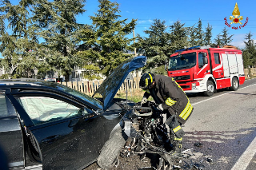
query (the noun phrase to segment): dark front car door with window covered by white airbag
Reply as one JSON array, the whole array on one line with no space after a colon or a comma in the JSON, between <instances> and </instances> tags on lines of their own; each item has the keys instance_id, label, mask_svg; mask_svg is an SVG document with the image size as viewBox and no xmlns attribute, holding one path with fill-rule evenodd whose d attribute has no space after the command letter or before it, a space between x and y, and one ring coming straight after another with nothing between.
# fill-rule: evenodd
<instances>
[{"instance_id":1,"label":"dark front car door with window covered by white airbag","mask_svg":"<svg viewBox=\"0 0 256 170\"><path fill-rule=\"evenodd\" d=\"M6 96L18 110L34 155L42 160L44 169L79 169L98 157L104 144L102 118L84 109L86 105L54 93Z\"/></svg>"}]
</instances>

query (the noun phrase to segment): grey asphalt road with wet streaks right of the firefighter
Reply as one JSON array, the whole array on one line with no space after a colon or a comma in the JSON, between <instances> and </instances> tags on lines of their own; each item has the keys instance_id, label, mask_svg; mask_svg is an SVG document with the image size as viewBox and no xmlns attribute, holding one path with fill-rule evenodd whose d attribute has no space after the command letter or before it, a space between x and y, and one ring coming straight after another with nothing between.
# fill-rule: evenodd
<instances>
[{"instance_id":1,"label":"grey asphalt road with wet streaks right of the firefighter","mask_svg":"<svg viewBox=\"0 0 256 170\"><path fill-rule=\"evenodd\" d=\"M183 147L194 149L203 169L256 169L256 79L238 91L188 97L194 112L183 127ZM201 147L194 146L198 143Z\"/></svg>"}]
</instances>

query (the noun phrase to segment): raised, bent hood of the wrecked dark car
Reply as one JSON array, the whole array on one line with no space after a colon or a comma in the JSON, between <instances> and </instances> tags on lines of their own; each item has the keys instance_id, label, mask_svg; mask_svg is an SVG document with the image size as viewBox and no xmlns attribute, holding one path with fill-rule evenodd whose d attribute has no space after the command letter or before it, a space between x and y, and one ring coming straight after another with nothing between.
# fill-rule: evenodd
<instances>
[{"instance_id":1,"label":"raised, bent hood of the wrecked dark car","mask_svg":"<svg viewBox=\"0 0 256 170\"><path fill-rule=\"evenodd\" d=\"M110 106L115 94L126 79L127 75L134 69L141 68L146 65L146 57L138 56L130 58L124 61L121 65L118 65L116 69L107 77L102 84L95 91L103 97L104 105L103 110L105 111ZM93 95L93 97L94 97Z\"/></svg>"}]
</instances>

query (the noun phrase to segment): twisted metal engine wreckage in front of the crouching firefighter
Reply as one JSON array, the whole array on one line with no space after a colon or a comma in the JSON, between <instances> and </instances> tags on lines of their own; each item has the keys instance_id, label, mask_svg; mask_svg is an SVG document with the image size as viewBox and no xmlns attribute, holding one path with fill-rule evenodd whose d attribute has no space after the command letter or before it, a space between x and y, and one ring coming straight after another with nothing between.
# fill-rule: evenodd
<instances>
[{"instance_id":1,"label":"twisted metal engine wreckage in front of the crouching firefighter","mask_svg":"<svg viewBox=\"0 0 256 170\"><path fill-rule=\"evenodd\" d=\"M122 117L124 123L123 131L129 136L125 146L122 148L121 156L130 157L140 155L141 161L146 153L158 155L157 167L144 167L142 169L202 169L204 160L194 160L193 148L182 152L182 157L173 156L170 151L173 148L171 138L173 132L168 132L163 122L163 114L157 109L154 102L134 105L133 109ZM198 161L198 162L197 162ZM211 159L206 161L212 162Z\"/></svg>"}]
</instances>

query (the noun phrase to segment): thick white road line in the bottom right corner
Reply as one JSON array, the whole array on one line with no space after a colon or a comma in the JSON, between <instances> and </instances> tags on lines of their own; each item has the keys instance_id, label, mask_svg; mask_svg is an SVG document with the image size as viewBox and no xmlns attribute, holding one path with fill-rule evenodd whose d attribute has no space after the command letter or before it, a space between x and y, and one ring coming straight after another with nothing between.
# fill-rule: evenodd
<instances>
[{"instance_id":1,"label":"thick white road line in the bottom right corner","mask_svg":"<svg viewBox=\"0 0 256 170\"><path fill-rule=\"evenodd\" d=\"M246 151L242 153L242 156L239 158L234 167L231 170L245 170L247 166L250 164L250 160L253 159L256 153L256 137L250 143Z\"/></svg>"}]
</instances>

